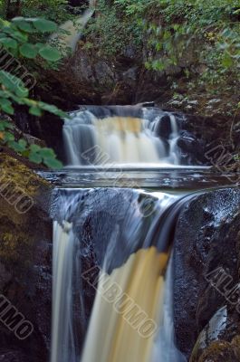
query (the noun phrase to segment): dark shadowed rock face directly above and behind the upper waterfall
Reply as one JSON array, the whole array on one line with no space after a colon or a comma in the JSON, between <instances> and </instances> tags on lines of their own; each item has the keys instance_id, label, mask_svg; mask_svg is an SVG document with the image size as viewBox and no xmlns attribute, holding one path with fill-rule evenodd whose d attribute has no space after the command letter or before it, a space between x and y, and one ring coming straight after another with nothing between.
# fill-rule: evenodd
<instances>
[{"instance_id":1,"label":"dark shadowed rock face directly above and behind the upper waterfall","mask_svg":"<svg viewBox=\"0 0 240 362\"><path fill-rule=\"evenodd\" d=\"M62 69L50 72L48 79L58 98L89 105L165 100L168 75L146 70L141 47L128 43L116 57L108 57L97 50L99 42L82 39ZM92 49L89 43L93 43Z\"/></svg>"}]
</instances>

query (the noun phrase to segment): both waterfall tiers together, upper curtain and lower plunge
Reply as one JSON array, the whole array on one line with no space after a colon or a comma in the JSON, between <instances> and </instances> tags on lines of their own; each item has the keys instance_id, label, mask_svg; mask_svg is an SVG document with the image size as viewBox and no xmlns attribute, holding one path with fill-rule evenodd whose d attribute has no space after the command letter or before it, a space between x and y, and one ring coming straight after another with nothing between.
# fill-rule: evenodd
<instances>
[{"instance_id":1,"label":"both waterfall tiers together, upper curtain and lower plunge","mask_svg":"<svg viewBox=\"0 0 240 362\"><path fill-rule=\"evenodd\" d=\"M146 178L146 165L179 165L174 114L136 106L70 116L66 169L78 169L80 184L84 167L94 176L101 166L108 178L111 168L137 165ZM51 362L187 361L174 337L171 247L178 214L196 193L144 191L128 175L122 187L107 179L107 187L55 190Z\"/></svg>"}]
</instances>

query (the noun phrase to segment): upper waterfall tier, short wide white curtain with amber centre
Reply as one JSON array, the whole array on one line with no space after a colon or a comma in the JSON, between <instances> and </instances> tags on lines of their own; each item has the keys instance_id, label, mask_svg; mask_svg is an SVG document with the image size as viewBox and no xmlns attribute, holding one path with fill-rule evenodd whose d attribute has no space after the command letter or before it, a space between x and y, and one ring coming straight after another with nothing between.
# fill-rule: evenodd
<instances>
[{"instance_id":1,"label":"upper waterfall tier, short wide white curtain with amber centre","mask_svg":"<svg viewBox=\"0 0 240 362\"><path fill-rule=\"evenodd\" d=\"M67 166L178 165L177 116L154 108L88 107L65 119Z\"/></svg>"}]
</instances>

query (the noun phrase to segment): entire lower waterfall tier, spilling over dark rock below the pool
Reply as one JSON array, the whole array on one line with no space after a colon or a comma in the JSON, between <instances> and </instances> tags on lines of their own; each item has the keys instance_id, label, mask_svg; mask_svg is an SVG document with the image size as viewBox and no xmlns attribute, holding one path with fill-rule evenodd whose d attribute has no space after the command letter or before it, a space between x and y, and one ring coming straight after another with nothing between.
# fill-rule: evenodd
<instances>
[{"instance_id":1,"label":"entire lower waterfall tier, spilling over dark rock below the pool","mask_svg":"<svg viewBox=\"0 0 240 362\"><path fill-rule=\"evenodd\" d=\"M190 197L55 192L51 362L186 362L174 343L168 259Z\"/></svg>"}]
</instances>

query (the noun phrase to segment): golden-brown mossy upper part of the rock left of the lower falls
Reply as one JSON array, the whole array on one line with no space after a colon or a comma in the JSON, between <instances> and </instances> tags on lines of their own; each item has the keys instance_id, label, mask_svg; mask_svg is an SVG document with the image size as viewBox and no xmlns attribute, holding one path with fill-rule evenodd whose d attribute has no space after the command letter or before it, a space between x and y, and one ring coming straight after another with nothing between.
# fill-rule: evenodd
<instances>
[{"instance_id":1,"label":"golden-brown mossy upper part of the rock left of the lower falls","mask_svg":"<svg viewBox=\"0 0 240 362\"><path fill-rule=\"evenodd\" d=\"M43 199L50 199L52 188L8 155L0 154L0 169L0 262L19 262L25 266L33 259L36 235L41 233L38 229L46 217ZM17 191L19 194L15 195ZM31 208L25 213L16 207L18 195L22 194L31 202Z\"/></svg>"}]
</instances>

